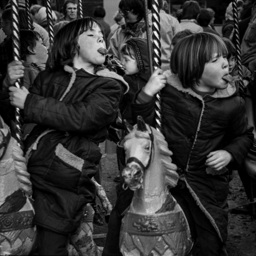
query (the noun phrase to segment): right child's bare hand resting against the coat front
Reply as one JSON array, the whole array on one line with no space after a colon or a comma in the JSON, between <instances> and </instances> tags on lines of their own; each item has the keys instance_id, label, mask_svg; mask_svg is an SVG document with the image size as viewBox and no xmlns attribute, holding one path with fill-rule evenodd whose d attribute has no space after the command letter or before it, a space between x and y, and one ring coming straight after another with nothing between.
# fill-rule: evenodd
<instances>
[{"instance_id":1,"label":"right child's bare hand resting against the coat front","mask_svg":"<svg viewBox=\"0 0 256 256\"><path fill-rule=\"evenodd\" d=\"M233 160L232 154L226 150L212 151L208 154L207 158L205 165L216 171L221 170Z\"/></svg>"}]
</instances>

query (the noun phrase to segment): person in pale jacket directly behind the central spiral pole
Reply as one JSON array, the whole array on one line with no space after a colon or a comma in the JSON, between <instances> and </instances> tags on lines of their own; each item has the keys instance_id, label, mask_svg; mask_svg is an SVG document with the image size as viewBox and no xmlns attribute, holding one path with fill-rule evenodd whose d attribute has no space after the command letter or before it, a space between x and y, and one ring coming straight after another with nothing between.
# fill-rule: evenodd
<instances>
[{"instance_id":1,"label":"person in pale jacket directly behind the central spiral pole","mask_svg":"<svg viewBox=\"0 0 256 256\"><path fill-rule=\"evenodd\" d=\"M171 59L171 45L173 36L181 31L180 23L175 17L167 14L163 8L163 0L158 0L160 7L160 35L161 35L161 69L163 71L170 69ZM152 25L152 4L151 0L148 0L148 21L149 25Z\"/></svg>"}]
</instances>

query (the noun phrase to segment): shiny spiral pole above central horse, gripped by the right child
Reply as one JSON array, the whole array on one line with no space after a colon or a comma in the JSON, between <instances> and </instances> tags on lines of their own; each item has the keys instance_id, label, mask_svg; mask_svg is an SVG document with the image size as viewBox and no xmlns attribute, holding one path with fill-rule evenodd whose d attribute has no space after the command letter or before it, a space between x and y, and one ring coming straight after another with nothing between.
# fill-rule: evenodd
<instances>
[{"instance_id":1,"label":"shiny spiral pole above central horse, gripped by the right child","mask_svg":"<svg viewBox=\"0 0 256 256\"><path fill-rule=\"evenodd\" d=\"M160 8L158 0L152 0L152 39L153 39L153 64L154 69L161 67L161 35L160 35ZM157 93L156 99L156 129L162 132L162 111L161 111L161 94Z\"/></svg>"}]
</instances>

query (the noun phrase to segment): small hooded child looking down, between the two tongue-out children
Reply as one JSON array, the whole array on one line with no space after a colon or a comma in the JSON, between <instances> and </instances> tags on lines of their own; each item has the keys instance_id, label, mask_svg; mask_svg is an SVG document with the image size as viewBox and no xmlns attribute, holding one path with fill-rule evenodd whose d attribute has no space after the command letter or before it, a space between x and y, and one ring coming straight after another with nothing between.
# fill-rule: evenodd
<instances>
[{"instance_id":1,"label":"small hooded child looking down, between the two tongue-out children","mask_svg":"<svg viewBox=\"0 0 256 256\"><path fill-rule=\"evenodd\" d=\"M120 53L122 56L121 65L125 70L123 78L129 84L129 90L120 102L119 109L122 120L126 119L132 124L131 103L133 97L150 78L147 39L128 39L122 46Z\"/></svg>"}]
</instances>

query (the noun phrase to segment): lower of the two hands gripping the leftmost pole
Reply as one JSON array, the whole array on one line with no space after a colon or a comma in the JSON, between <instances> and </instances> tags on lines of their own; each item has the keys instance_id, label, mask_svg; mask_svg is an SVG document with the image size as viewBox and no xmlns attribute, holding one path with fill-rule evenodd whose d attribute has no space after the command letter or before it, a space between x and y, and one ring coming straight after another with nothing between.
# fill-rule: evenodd
<instances>
[{"instance_id":1,"label":"lower of the two hands gripping the leftmost pole","mask_svg":"<svg viewBox=\"0 0 256 256\"><path fill-rule=\"evenodd\" d=\"M26 87L22 87L21 89L11 86L9 87L9 99L11 104L19 109L24 109L24 103L26 101L26 96L29 94L29 91Z\"/></svg>"}]
</instances>

